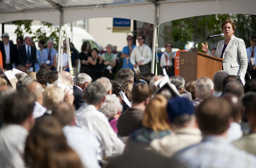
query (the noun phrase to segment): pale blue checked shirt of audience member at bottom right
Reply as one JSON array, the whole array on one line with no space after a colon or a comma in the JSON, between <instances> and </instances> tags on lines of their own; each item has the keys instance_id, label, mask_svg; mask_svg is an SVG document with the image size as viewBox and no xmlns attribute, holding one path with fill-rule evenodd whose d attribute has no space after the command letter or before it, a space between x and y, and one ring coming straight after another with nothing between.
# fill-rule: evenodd
<instances>
[{"instance_id":1,"label":"pale blue checked shirt of audience member at bottom right","mask_svg":"<svg viewBox=\"0 0 256 168\"><path fill-rule=\"evenodd\" d=\"M201 143L174 155L186 168L255 168L256 157L231 144L223 136L205 136Z\"/></svg>"}]
</instances>

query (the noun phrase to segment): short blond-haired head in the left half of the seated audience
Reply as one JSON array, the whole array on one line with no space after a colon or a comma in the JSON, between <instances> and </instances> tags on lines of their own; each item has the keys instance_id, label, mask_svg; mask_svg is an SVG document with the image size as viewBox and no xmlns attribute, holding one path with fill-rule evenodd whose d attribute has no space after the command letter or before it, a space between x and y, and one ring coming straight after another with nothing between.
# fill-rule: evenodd
<instances>
[{"instance_id":1,"label":"short blond-haired head in the left half of the seated audience","mask_svg":"<svg viewBox=\"0 0 256 168\"><path fill-rule=\"evenodd\" d=\"M52 110L53 106L64 101L65 93L60 87L53 84L45 88L43 101L44 106L48 110Z\"/></svg>"}]
</instances>

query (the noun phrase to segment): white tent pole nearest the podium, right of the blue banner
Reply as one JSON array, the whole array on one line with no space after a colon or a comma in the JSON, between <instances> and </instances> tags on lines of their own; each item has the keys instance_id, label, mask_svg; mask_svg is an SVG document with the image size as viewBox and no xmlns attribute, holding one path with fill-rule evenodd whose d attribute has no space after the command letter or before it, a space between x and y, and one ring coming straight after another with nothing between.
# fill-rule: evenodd
<instances>
[{"instance_id":1,"label":"white tent pole nearest the podium, right of the blue banner","mask_svg":"<svg viewBox=\"0 0 256 168\"><path fill-rule=\"evenodd\" d=\"M159 3L155 2L155 18L154 18L154 31L153 31L153 43L152 43L152 58L151 58L151 73L155 74L155 50L156 50L156 40L157 40L157 25L158 25L158 15L159 15Z\"/></svg>"}]
</instances>

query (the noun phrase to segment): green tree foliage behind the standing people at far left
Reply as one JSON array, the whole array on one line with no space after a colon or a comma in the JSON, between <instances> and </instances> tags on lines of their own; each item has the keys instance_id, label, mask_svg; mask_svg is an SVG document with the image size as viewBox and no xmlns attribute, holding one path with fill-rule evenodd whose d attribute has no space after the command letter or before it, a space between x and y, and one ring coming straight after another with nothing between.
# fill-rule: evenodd
<instances>
[{"instance_id":1,"label":"green tree foliage behind the standing people at far left","mask_svg":"<svg viewBox=\"0 0 256 168\"><path fill-rule=\"evenodd\" d=\"M35 32L31 30L31 22L32 21L17 21L15 25L17 26L15 30L15 34L18 36L22 36L24 38L24 33L31 34L31 38L34 42L43 40L45 43L48 39L53 40L53 48L57 49L58 44L58 35L59 28L57 26L52 26L51 23L42 22L42 26L38 28ZM22 27L24 25L24 29Z\"/></svg>"}]
</instances>

